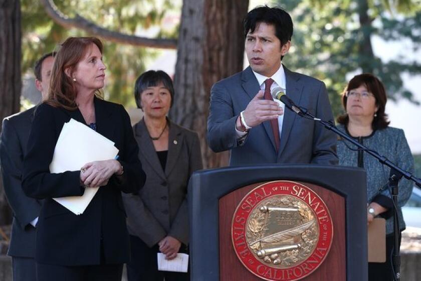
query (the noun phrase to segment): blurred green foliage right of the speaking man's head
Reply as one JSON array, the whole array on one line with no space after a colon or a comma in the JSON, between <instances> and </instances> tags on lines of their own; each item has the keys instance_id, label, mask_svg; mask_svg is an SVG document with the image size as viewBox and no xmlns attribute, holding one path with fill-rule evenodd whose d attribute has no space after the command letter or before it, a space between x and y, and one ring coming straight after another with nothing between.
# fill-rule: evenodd
<instances>
[{"instance_id":1,"label":"blurred green foliage right of the speaking man's head","mask_svg":"<svg viewBox=\"0 0 421 281\"><path fill-rule=\"evenodd\" d=\"M387 2L387 6L385 5ZM278 5L291 14L294 22L292 48L284 64L292 70L323 80L335 116L342 113L340 94L347 81L371 69L385 84L389 98L406 98L417 103L404 88L401 74L421 74L419 60L395 57L382 61L362 52L364 34L383 40L408 40L416 51L421 42L421 5L411 1L389 0L280 0ZM364 10L364 4L368 9ZM407 10L410 7L410 10ZM361 25L359 12L370 21ZM401 14L395 11L410 11ZM394 11L392 14L389 11Z\"/></svg>"}]
</instances>

